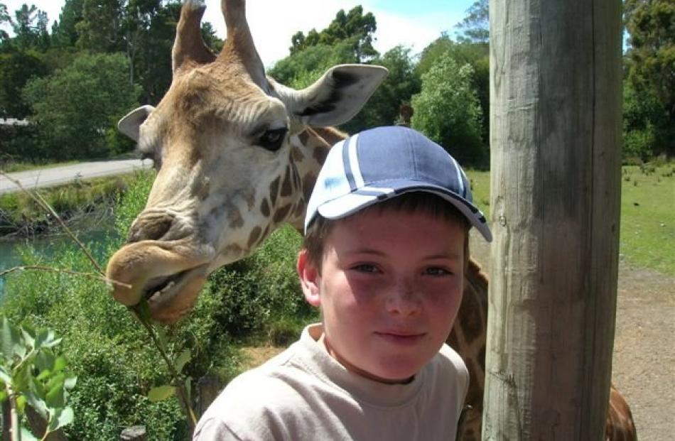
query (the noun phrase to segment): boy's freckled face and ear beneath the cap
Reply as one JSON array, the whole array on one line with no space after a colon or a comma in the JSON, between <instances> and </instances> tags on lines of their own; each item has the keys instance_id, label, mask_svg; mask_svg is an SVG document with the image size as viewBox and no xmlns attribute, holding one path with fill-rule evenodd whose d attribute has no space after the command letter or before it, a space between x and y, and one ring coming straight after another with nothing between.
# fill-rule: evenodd
<instances>
[{"instance_id":1,"label":"boy's freckled face and ear beneath the cap","mask_svg":"<svg viewBox=\"0 0 675 441\"><path fill-rule=\"evenodd\" d=\"M465 228L421 212L369 209L336 222L319 273L298 256L303 292L347 369L406 381L445 342L463 291Z\"/></svg>"}]
</instances>

